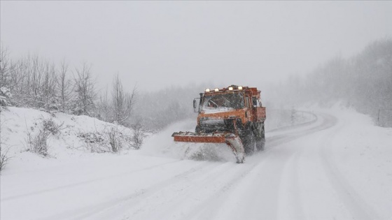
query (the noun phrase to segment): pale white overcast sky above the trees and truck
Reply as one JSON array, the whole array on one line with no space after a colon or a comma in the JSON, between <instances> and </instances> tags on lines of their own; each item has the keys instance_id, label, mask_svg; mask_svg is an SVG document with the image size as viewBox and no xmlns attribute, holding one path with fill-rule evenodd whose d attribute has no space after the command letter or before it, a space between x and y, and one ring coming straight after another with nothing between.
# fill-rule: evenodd
<instances>
[{"instance_id":1,"label":"pale white overcast sky above the trees and truck","mask_svg":"<svg viewBox=\"0 0 392 220\"><path fill-rule=\"evenodd\" d=\"M392 1L0 1L11 57L87 62L100 87L251 85L392 36Z\"/></svg>"}]
</instances>

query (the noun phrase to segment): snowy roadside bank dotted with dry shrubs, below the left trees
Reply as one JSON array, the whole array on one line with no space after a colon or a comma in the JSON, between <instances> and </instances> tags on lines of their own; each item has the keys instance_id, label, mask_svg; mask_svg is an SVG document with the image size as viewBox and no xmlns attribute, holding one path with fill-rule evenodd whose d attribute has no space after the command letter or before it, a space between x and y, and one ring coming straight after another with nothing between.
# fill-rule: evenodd
<instances>
[{"instance_id":1,"label":"snowy roadside bank dotted with dry shrubs, below the left trees","mask_svg":"<svg viewBox=\"0 0 392 220\"><path fill-rule=\"evenodd\" d=\"M50 115L29 108L8 109L1 112L1 150L10 158L6 165L10 170L47 166L103 152L126 154L134 149L133 131L124 126L62 112ZM47 152L41 154L33 147L40 132L48 134ZM112 148L110 135L120 140L115 143L117 151Z\"/></svg>"}]
</instances>

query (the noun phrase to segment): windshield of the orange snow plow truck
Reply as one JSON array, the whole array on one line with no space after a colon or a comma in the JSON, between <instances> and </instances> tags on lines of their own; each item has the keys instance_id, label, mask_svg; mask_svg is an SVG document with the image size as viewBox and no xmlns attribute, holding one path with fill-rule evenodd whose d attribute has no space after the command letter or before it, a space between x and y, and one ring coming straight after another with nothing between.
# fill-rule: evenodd
<instances>
[{"instance_id":1,"label":"windshield of the orange snow plow truck","mask_svg":"<svg viewBox=\"0 0 392 220\"><path fill-rule=\"evenodd\" d=\"M244 94L215 94L204 96L202 111L225 112L233 109L244 108Z\"/></svg>"}]
</instances>

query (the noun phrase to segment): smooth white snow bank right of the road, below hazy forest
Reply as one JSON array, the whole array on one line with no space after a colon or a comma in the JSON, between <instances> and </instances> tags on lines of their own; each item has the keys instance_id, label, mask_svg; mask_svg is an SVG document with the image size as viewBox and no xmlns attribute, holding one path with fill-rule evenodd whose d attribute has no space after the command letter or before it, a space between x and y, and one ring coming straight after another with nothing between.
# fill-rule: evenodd
<instances>
[{"instance_id":1,"label":"smooth white snow bank right of the road, below hazy forest","mask_svg":"<svg viewBox=\"0 0 392 220\"><path fill-rule=\"evenodd\" d=\"M392 204L392 129L375 126L370 116L355 110L335 106L332 111L339 130L332 133L332 147L325 154L331 154L332 172L339 170L335 181L347 186L345 193L351 193L354 203L368 204L361 209L370 217L392 217L386 205Z\"/></svg>"}]
</instances>

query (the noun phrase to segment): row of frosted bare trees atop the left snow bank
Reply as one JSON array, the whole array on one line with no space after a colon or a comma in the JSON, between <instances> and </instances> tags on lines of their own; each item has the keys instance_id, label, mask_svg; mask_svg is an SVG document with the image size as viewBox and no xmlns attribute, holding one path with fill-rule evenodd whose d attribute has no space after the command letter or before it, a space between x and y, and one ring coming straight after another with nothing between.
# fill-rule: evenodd
<instances>
[{"instance_id":1,"label":"row of frosted bare trees atop the left snow bank","mask_svg":"<svg viewBox=\"0 0 392 220\"><path fill-rule=\"evenodd\" d=\"M28 55L10 59L0 45L0 105L35 108L45 112L64 112L97 117L105 122L130 126L137 88L125 91L118 74L111 91L98 94L91 68L84 63L70 68Z\"/></svg>"}]
</instances>

